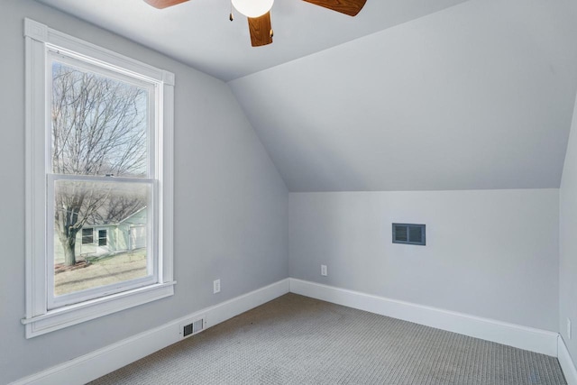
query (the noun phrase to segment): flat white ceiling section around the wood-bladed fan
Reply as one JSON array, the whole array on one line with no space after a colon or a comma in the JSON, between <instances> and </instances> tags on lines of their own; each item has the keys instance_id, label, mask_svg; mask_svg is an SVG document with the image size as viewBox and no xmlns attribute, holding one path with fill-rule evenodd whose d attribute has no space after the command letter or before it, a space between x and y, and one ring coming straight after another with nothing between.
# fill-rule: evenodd
<instances>
[{"instance_id":1,"label":"flat white ceiling section around the wood-bladed fan","mask_svg":"<svg viewBox=\"0 0 577 385\"><path fill-rule=\"evenodd\" d=\"M355 17L301 0L276 0L274 42L251 47L230 0L190 0L162 10L143 0L38 0L228 81L442 10L465 0L368 0Z\"/></svg>"}]
</instances>

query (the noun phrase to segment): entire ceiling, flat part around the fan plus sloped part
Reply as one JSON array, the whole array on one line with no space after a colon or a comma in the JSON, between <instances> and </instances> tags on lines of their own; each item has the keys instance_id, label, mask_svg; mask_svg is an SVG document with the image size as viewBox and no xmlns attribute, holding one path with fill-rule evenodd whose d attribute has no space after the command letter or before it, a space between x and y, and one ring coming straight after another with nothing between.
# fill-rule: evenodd
<instances>
[{"instance_id":1,"label":"entire ceiling, flat part around the fan plus sloped part","mask_svg":"<svg viewBox=\"0 0 577 385\"><path fill-rule=\"evenodd\" d=\"M290 191L559 187L576 0L277 0L260 48L225 0L40 1L228 81Z\"/></svg>"}]
</instances>

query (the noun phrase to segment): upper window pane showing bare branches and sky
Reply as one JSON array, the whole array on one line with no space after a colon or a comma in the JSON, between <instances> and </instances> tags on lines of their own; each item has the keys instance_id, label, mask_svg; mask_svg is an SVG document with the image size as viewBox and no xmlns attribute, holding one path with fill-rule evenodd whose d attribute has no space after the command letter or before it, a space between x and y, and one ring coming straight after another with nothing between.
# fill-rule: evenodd
<instances>
[{"instance_id":1,"label":"upper window pane showing bare branches and sky","mask_svg":"<svg viewBox=\"0 0 577 385\"><path fill-rule=\"evenodd\" d=\"M52 63L52 172L147 177L148 90Z\"/></svg>"}]
</instances>

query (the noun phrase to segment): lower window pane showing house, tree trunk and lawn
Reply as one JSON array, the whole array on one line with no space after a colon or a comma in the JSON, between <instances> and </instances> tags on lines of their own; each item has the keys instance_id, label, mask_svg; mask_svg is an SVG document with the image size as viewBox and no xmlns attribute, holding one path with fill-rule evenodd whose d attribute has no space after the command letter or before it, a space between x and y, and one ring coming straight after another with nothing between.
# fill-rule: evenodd
<instances>
[{"instance_id":1,"label":"lower window pane showing house, tree trunk and lawn","mask_svg":"<svg viewBox=\"0 0 577 385\"><path fill-rule=\"evenodd\" d=\"M148 182L54 182L55 296L149 275L151 189ZM85 243L92 228L96 242Z\"/></svg>"}]
</instances>

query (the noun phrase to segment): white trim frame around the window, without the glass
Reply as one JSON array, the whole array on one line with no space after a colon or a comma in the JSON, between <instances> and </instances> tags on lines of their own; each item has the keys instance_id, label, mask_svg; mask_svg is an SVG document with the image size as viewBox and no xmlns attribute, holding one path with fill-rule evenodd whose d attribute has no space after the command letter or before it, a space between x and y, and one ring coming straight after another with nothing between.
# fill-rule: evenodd
<instances>
[{"instance_id":1,"label":"white trim frame around the window, without the glass","mask_svg":"<svg viewBox=\"0 0 577 385\"><path fill-rule=\"evenodd\" d=\"M81 41L65 33L52 30L46 25L24 19L26 50L26 315L22 319L26 338L50 333L61 328L77 325L99 316L105 316L126 308L135 307L166 298L174 294L173 280L173 164L174 147L174 74L126 58L111 50L105 50L86 41ZM67 307L47 309L47 267L46 267L46 182L45 165L50 159L45 145L47 119L45 63L47 46L70 50L92 60L112 64L119 69L141 74L160 83L160 109L162 124L161 137L156 138L159 152L156 161L162 159L162 169L158 170L160 181L158 248L159 282L143 288L132 289L111 296L95 298Z\"/></svg>"}]
</instances>

